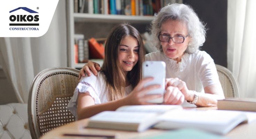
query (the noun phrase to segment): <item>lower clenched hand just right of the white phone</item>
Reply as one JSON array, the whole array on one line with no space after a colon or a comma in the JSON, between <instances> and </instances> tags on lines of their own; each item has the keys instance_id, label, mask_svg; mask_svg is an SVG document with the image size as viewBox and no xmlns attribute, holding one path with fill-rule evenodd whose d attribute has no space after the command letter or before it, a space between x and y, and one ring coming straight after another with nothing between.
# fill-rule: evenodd
<instances>
[{"instance_id":1,"label":"lower clenched hand just right of the white phone","mask_svg":"<svg viewBox=\"0 0 256 139\"><path fill-rule=\"evenodd\" d=\"M165 90L163 104L180 105L184 102L184 95L177 87L166 86Z\"/></svg>"}]
</instances>

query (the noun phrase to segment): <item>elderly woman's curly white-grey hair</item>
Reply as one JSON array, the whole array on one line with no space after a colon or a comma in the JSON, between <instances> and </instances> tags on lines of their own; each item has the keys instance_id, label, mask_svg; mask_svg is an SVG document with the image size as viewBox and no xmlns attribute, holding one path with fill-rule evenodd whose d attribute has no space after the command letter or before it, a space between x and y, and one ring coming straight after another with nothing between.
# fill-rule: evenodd
<instances>
[{"instance_id":1,"label":"elderly woman's curly white-grey hair","mask_svg":"<svg viewBox=\"0 0 256 139\"><path fill-rule=\"evenodd\" d=\"M205 42L206 28L205 24L200 21L199 17L189 5L171 4L163 7L158 14L154 15L154 20L151 23L150 31L153 35L155 46L162 51L162 46L158 40L158 35L161 32L162 24L168 19L178 20L187 25L188 34L191 41L188 43L186 53L193 54L200 49L200 46Z\"/></svg>"}]
</instances>

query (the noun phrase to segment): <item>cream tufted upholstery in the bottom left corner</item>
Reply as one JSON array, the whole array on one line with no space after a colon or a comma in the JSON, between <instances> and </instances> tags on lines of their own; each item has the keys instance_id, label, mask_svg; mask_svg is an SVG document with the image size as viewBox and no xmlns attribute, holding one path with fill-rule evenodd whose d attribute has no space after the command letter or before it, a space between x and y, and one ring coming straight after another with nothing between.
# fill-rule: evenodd
<instances>
[{"instance_id":1,"label":"cream tufted upholstery in the bottom left corner","mask_svg":"<svg viewBox=\"0 0 256 139\"><path fill-rule=\"evenodd\" d=\"M0 105L0 139L31 139L27 104Z\"/></svg>"}]
</instances>

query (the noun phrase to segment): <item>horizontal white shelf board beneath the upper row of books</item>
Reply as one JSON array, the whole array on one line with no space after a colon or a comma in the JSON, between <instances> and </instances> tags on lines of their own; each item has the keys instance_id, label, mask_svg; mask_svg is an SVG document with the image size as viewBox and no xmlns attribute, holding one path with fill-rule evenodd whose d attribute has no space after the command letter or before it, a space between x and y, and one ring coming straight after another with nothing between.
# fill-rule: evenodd
<instances>
[{"instance_id":1,"label":"horizontal white shelf board beneath the upper row of books","mask_svg":"<svg viewBox=\"0 0 256 139\"><path fill-rule=\"evenodd\" d=\"M75 22L101 22L101 23L150 23L153 16L127 16L74 13Z\"/></svg>"}]
</instances>

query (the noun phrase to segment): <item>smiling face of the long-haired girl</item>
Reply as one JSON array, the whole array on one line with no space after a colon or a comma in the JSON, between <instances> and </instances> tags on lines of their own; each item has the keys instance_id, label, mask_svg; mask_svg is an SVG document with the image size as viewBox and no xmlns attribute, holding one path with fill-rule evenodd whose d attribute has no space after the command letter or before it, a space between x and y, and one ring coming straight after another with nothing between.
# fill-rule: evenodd
<instances>
[{"instance_id":1,"label":"smiling face of the long-haired girl","mask_svg":"<svg viewBox=\"0 0 256 139\"><path fill-rule=\"evenodd\" d=\"M118 61L125 75L127 72L131 71L138 62L138 52L139 44L135 38L126 36L122 39L118 50Z\"/></svg>"}]
</instances>

